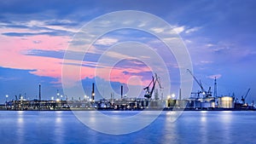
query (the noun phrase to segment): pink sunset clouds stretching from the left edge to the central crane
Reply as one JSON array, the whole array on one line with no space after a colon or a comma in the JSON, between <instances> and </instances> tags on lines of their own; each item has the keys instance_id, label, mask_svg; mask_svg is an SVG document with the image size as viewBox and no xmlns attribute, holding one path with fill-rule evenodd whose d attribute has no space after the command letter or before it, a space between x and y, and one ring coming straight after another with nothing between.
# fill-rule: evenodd
<instances>
[{"instance_id":1,"label":"pink sunset clouds stretching from the left edge to the central crane","mask_svg":"<svg viewBox=\"0 0 256 144\"><path fill-rule=\"evenodd\" d=\"M61 70L62 60L58 58L43 57L37 55L24 55L24 52L30 49L40 50L65 50L68 46L70 37L50 37L50 36L32 36L32 37L6 37L0 36L0 66L32 70L32 74L42 77L56 78L57 81L52 84L61 84ZM74 61L78 63L79 61ZM85 61L86 62L86 61ZM140 63L139 63L140 64ZM71 69L78 67L76 65L70 66ZM139 73L151 71L147 66L132 66L131 68L113 68L110 73L110 78L106 72L111 67L100 67L98 70L101 72L99 77L113 82L127 84L129 79L134 76L125 74L124 72ZM74 76L73 72L68 72L66 77L72 79L73 82L78 82L83 78L96 77L96 68L89 66L81 67L81 75ZM142 76L137 75L138 78ZM143 85L149 84L151 79L142 82ZM132 82L132 81L131 81ZM130 83L131 83L130 82ZM133 83L131 83L133 84ZM134 84L136 85L136 84Z\"/></svg>"}]
</instances>

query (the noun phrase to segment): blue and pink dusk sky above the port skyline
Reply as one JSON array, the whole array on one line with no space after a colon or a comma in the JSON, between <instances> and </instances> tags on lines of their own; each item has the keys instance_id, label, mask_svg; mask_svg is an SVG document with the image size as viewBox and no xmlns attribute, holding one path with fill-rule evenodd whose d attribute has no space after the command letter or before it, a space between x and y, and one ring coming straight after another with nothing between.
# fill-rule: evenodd
<instances>
[{"instance_id":1,"label":"blue and pink dusk sky above the port skyline","mask_svg":"<svg viewBox=\"0 0 256 144\"><path fill-rule=\"evenodd\" d=\"M119 98L119 87L124 85L125 95L135 97L137 93L132 91L148 86L154 71L160 72L155 70L162 68L160 63L155 62L160 60L166 63L172 82L171 92L165 91L163 95L178 95L180 66L159 37L148 32L119 29L97 37L90 46L83 45L90 36L79 34L90 21L115 11L137 10L153 14L172 26L189 52L195 77L201 80L205 89L211 86L213 91L214 78L218 82L218 96L234 93L241 99L241 95L245 95L250 88L247 102L251 103L256 101L255 6L253 0L1 1L0 102L6 100L6 95L9 95L9 100L15 99L15 95L36 99L38 84L42 85L42 98L46 100L52 96L56 98L57 90L69 98L80 96L63 91L63 66L69 66L67 71L70 73L67 73L66 80L70 83L65 85L67 89L82 84L84 94L90 95L91 84L98 82L96 97L109 97L114 93ZM101 26L111 26L117 19L113 17L102 22ZM124 15L120 19L131 17ZM147 28L154 32L165 31L155 29L154 25L157 23L150 22ZM90 30L96 32L96 26ZM84 38L84 41L79 41L79 38ZM129 43L130 47L126 48L125 42L137 43ZM83 45L79 47L83 50L70 50L77 45ZM85 47L89 48L86 54ZM122 47L121 51L119 47ZM72 56L65 57L67 55ZM107 57L104 59L102 55ZM127 58L127 55L130 57ZM157 56L161 59L158 60ZM76 59L80 57L81 60ZM111 60L117 62L110 66ZM80 75L73 74L75 70L79 70ZM165 83L169 78L161 72L158 75L168 86ZM108 82L113 90L104 87ZM167 88L164 86L164 89ZM198 90L200 87L194 81L192 92ZM138 91L138 95L143 93Z\"/></svg>"}]
</instances>

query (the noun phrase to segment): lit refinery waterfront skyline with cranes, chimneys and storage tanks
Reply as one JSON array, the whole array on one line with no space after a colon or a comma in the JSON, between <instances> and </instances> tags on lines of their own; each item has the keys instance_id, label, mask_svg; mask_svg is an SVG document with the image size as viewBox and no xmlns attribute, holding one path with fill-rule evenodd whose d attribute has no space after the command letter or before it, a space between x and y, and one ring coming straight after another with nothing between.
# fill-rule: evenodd
<instances>
[{"instance_id":1,"label":"lit refinery waterfront skyline with cranes, chimneys and storage tanks","mask_svg":"<svg viewBox=\"0 0 256 144\"><path fill-rule=\"evenodd\" d=\"M255 107L246 103L247 95L250 89L247 89L246 95L241 96L241 101L235 95L217 95L217 81L214 79L214 91L212 95L211 87L206 90L201 81L195 78L194 74L188 69L191 77L201 88L198 92L192 92L189 98L183 99L182 89L179 89L179 95L168 95L163 99L163 94L159 95L162 86L160 77L155 73L151 82L143 90L143 98L130 98L124 96L123 85L120 86L120 98L114 98L111 94L110 99L95 100L95 84L92 84L91 95L81 96L79 100L68 100L67 95L60 95L57 90L57 98L54 100L43 100L41 97L41 84L38 85L38 99L26 100L26 97L16 96L15 100L8 101L6 95L5 103L0 105L0 110L255 110ZM156 87L159 87L157 89Z\"/></svg>"}]
</instances>

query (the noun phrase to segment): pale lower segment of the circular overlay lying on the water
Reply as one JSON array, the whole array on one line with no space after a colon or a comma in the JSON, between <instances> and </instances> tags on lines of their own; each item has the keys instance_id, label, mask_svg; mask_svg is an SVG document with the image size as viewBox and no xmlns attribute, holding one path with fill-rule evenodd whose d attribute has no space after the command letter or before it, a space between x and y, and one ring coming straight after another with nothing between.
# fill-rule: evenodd
<instances>
[{"instance_id":1,"label":"pale lower segment of the circular overlay lying on the water","mask_svg":"<svg viewBox=\"0 0 256 144\"><path fill-rule=\"evenodd\" d=\"M73 113L79 118L80 122L90 127L92 130L96 130L105 134L123 135L142 130L154 121L154 118L160 114L161 111L145 111L139 114L133 115L134 112L118 111L117 112L105 112L102 114L97 111L73 111ZM115 115L115 117L110 117ZM119 117L116 117L119 115ZM122 116L132 115L131 117Z\"/></svg>"}]
</instances>

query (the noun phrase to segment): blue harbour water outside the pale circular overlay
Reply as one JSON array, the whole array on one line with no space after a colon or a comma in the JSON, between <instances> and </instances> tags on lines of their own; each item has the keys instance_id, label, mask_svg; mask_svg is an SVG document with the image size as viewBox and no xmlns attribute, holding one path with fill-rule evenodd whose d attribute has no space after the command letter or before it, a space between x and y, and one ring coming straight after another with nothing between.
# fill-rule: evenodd
<instances>
[{"instance_id":1,"label":"blue harbour water outside the pale circular overlay","mask_svg":"<svg viewBox=\"0 0 256 144\"><path fill-rule=\"evenodd\" d=\"M92 115L88 120L97 118ZM106 135L84 126L72 112L3 111L0 143L256 143L256 112L183 112L177 121L171 116L162 112L143 130Z\"/></svg>"}]
</instances>

